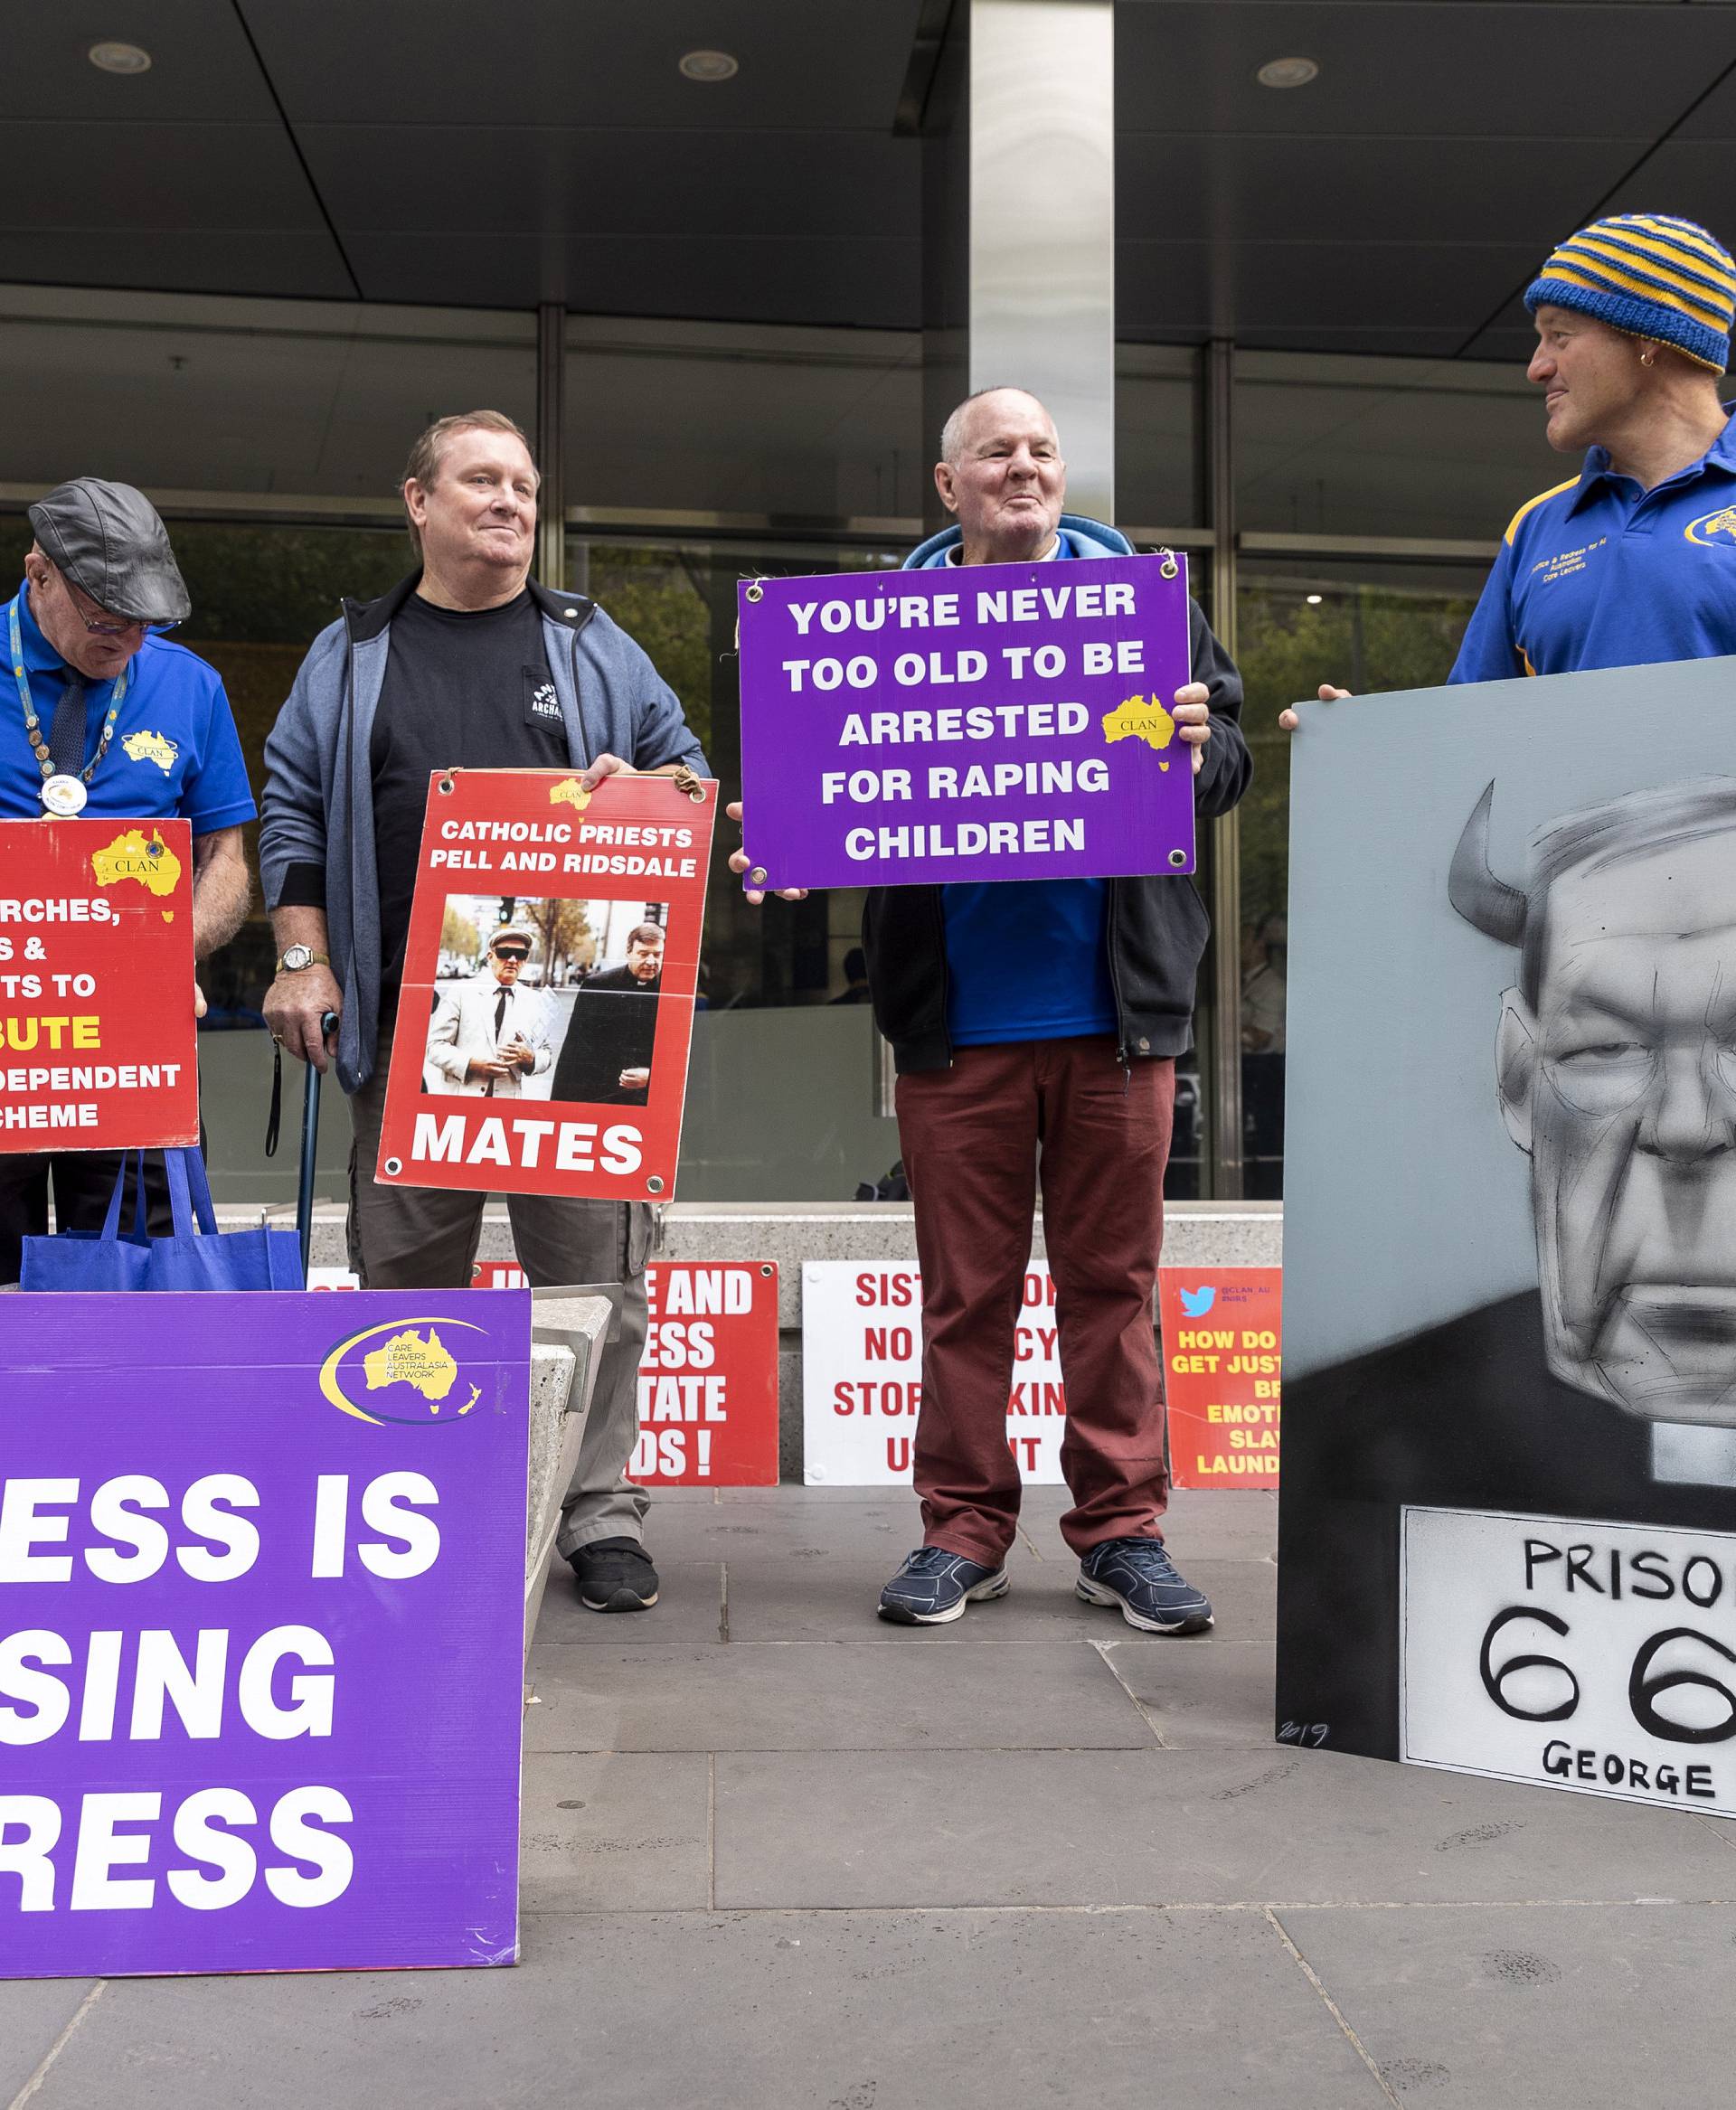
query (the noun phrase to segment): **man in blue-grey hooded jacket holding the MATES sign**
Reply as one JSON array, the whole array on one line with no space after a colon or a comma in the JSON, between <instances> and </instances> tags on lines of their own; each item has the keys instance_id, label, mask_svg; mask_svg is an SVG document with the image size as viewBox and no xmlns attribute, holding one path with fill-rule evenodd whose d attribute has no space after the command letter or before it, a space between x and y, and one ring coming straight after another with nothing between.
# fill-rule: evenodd
<instances>
[{"instance_id":1,"label":"man in blue-grey hooded jacket holding the MATES sign","mask_svg":"<svg viewBox=\"0 0 1736 2110\"><path fill-rule=\"evenodd\" d=\"M369 1289L458 1289L483 1194L373 1179L428 774L443 768L705 770L671 688L578 593L532 584L538 475L500 411L441 418L405 473L422 570L321 631L266 741L259 869L281 958L266 1023L350 1095L350 1260ZM418 1042L426 1019L411 1021ZM645 1342L645 1203L510 1194L527 1279L624 1285L563 1507L561 1555L593 1612L656 1604L643 1490L624 1479Z\"/></svg>"}]
</instances>

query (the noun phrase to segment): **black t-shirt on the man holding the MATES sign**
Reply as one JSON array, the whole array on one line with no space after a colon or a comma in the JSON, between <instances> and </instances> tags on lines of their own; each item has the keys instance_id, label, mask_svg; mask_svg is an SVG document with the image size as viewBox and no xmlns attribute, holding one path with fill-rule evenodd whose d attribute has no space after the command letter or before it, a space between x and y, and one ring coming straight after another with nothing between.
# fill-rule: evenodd
<instances>
[{"instance_id":1,"label":"black t-shirt on the man holding the MATES sign","mask_svg":"<svg viewBox=\"0 0 1736 2110\"><path fill-rule=\"evenodd\" d=\"M529 589L504 608L481 612L435 608L411 593L392 616L392 650L369 741L382 996L397 996L403 979L428 772L559 770L567 760L542 616Z\"/></svg>"}]
</instances>

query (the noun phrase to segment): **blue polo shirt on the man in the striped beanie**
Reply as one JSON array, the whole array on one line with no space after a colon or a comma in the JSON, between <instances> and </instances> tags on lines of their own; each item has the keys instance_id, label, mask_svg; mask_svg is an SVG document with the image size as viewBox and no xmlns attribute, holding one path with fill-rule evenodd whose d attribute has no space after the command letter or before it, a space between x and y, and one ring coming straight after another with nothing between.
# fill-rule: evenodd
<instances>
[{"instance_id":1,"label":"blue polo shirt on the man in the striped beanie","mask_svg":"<svg viewBox=\"0 0 1736 2110\"><path fill-rule=\"evenodd\" d=\"M1449 682L1736 652L1736 439L1643 492L1603 447L1502 538Z\"/></svg>"}]
</instances>

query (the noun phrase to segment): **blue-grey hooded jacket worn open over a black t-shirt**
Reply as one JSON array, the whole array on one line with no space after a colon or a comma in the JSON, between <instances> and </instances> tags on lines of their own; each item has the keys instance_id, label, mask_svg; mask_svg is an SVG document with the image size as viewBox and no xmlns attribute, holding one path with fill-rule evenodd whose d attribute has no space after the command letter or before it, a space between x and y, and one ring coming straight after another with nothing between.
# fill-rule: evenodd
<instances>
[{"instance_id":1,"label":"blue-grey hooded jacket worn open over a black t-shirt","mask_svg":"<svg viewBox=\"0 0 1736 2110\"><path fill-rule=\"evenodd\" d=\"M344 614L308 648L289 701L266 741L259 806L259 876L266 907L281 905L291 865L325 871L331 973L344 992L337 1082L361 1091L380 1040L380 871L373 855L373 713L392 650L392 616L420 572L378 601L344 601ZM551 593L532 580L542 614L548 673L561 701L567 755L620 755L639 770L686 762L711 774L681 703L633 639L582 593Z\"/></svg>"}]
</instances>

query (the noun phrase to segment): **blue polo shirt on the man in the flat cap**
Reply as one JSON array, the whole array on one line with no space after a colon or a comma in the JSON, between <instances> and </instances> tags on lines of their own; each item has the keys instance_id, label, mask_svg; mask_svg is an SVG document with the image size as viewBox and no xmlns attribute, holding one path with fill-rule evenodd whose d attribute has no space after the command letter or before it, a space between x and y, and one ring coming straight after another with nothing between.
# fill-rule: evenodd
<instances>
[{"instance_id":1,"label":"blue polo shirt on the man in the flat cap","mask_svg":"<svg viewBox=\"0 0 1736 2110\"><path fill-rule=\"evenodd\" d=\"M65 688L65 665L30 614L19 587L19 644L25 679L46 741ZM11 618L0 606L0 652ZM97 751L114 701L114 682L84 690L84 762ZM146 637L127 663L127 694L108 753L91 774L84 817L192 821L194 836L240 827L257 812L230 698L215 667L167 637ZM0 669L0 819L42 817L42 768L23 726L23 701L11 660Z\"/></svg>"}]
</instances>

